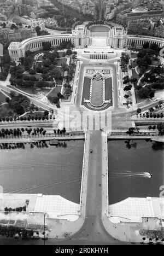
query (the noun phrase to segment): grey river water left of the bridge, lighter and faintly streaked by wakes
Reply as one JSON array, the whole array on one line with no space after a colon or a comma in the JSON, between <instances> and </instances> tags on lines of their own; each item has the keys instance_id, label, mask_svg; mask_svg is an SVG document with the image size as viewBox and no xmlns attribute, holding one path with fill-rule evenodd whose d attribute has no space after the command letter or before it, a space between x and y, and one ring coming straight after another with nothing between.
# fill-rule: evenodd
<instances>
[{"instance_id":1,"label":"grey river water left of the bridge, lighter and faintly streaked by wakes","mask_svg":"<svg viewBox=\"0 0 164 256\"><path fill-rule=\"evenodd\" d=\"M84 141L60 147L0 149L0 185L4 193L61 195L79 203Z\"/></svg>"}]
</instances>

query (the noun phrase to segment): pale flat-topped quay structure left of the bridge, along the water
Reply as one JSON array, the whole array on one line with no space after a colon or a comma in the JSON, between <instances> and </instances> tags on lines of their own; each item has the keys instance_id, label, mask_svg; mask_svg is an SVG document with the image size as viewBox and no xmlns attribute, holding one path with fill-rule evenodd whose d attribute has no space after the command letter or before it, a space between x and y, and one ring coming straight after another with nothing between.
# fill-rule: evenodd
<instances>
[{"instance_id":1,"label":"pale flat-topped quay structure left of the bridge, along the water","mask_svg":"<svg viewBox=\"0 0 164 256\"><path fill-rule=\"evenodd\" d=\"M0 212L5 207L23 207L29 200L26 213L46 213L48 218L76 219L80 205L60 195L43 194L0 194ZM1 220L1 219L0 219Z\"/></svg>"}]
</instances>

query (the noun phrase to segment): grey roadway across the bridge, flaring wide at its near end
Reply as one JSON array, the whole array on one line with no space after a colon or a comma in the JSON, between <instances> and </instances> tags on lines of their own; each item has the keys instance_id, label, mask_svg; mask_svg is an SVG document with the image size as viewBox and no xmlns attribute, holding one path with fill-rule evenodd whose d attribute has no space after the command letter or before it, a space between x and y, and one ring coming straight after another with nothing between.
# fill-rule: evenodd
<instances>
[{"instance_id":1,"label":"grey roadway across the bridge, flaring wide at its near end","mask_svg":"<svg viewBox=\"0 0 164 256\"><path fill-rule=\"evenodd\" d=\"M89 154L88 161L85 222L77 234L71 237L71 244L80 242L83 245L120 245L122 242L110 236L102 223L101 131L90 131L90 148L92 148L92 153Z\"/></svg>"}]
</instances>

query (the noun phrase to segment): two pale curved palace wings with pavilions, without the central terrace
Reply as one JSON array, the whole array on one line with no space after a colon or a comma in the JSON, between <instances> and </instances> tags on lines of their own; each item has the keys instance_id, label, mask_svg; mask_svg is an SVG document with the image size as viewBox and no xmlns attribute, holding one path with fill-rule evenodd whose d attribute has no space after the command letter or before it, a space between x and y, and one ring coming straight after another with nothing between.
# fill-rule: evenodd
<instances>
[{"instance_id":1,"label":"two pale curved palace wings with pavilions, without the central terrace","mask_svg":"<svg viewBox=\"0 0 164 256\"><path fill-rule=\"evenodd\" d=\"M38 51L43 49L43 42L50 42L51 46L55 48L63 41L69 42L75 45L75 48L86 48L90 44L91 40L90 31L85 26L77 26L72 34L59 34L59 35L46 35L40 37L28 38L22 42L12 42L9 45L9 54L11 60L18 61L20 57L24 57L26 51ZM127 34L122 26L115 26L106 33L107 48L142 48L145 42L149 42L150 45L156 43L159 47L164 46L163 38L148 37L148 36L136 36ZM103 47L103 46L102 46ZM106 58L106 57L105 57Z\"/></svg>"}]
</instances>

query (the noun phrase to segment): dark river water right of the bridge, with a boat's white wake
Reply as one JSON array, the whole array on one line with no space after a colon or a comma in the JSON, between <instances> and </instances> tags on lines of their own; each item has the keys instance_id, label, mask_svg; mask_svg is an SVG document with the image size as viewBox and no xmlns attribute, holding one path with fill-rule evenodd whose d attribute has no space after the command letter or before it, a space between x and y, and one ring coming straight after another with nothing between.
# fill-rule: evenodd
<instances>
[{"instance_id":1,"label":"dark river water right of the bridge, with a boat's white wake","mask_svg":"<svg viewBox=\"0 0 164 256\"><path fill-rule=\"evenodd\" d=\"M164 143L108 142L109 204L127 197L159 197L164 185ZM153 174L148 178L144 172Z\"/></svg>"}]
</instances>

